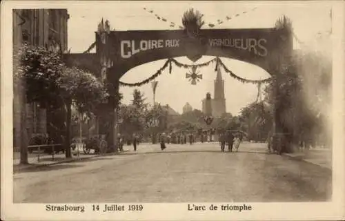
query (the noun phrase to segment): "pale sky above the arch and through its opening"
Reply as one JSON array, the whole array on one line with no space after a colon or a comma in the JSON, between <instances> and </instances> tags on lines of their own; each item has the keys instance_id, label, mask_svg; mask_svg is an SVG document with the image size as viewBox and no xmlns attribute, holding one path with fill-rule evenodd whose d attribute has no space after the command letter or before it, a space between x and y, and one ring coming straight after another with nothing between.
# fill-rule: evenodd
<instances>
[{"instance_id":1,"label":"pale sky above the arch and through its opening","mask_svg":"<svg viewBox=\"0 0 345 221\"><path fill-rule=\"evenodd\" d=\"M224 21L215 28L271 28L275 21L282 15L286 15L293 22L295 35L299 44L294 41L294 48L327 48L322 42L331 30L331 6L321 1L312 2L245 2L245 1L103 1L100 3L69 3L68 13L68 48L72 53L85 51L95 41L95 31L101 19L108 19L110 27L115 30L176 30L181 25L181 17L189 8L195 8L204 14L206 24L215 23L220 19ZM171 28L169 22L156 19L155 15L148 10L153 10L160 17L177 24L177 28ZM253 8L256 8L253 10ZM226 21L226 16L233 17L237 13L248 11L230 21ZM209 28L207 25L204 28ZM331 48L331 47L330 47ZM209 61L214 57L201 57L195 64ZM193 64L186 57L176 58L184 64ZM270 75L252 64L235 59L221 58L226 66L239 77L246 79L266 79ZM150 77L157 69L161 68L165 60L153 61L128 70L121 77L121 81L135 83ZM200 68L199 73L203 79L197 85L191 85L186 79L186 73L190 70L172 67L172 73L168 70L157 77L158 87L156 92L156 102L169 104L175 111L182 113L183 106L188 102L193 108L201 110L201 100L206 93L214 95L214 80L216 77L215 67L209 66ZM226 111L233 115L238 115L241 108L254 102L257 96L257 86L253 84L242 84L226 73L222 73L225 81ZM124 94L123 103L129 104L132 99L132 91L135 88L121 87ZM151 84L146 84L138 88L141 90L147 102L152 104Z\"/></svg>"}]
</instances>

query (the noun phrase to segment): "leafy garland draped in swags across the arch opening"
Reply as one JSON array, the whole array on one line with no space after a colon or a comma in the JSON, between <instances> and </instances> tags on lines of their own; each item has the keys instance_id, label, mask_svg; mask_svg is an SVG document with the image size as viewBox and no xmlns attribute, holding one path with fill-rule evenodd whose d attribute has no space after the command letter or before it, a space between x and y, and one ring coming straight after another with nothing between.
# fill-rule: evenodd
<instances>
[{"instance_id":1,"label":"leafy garland draped in swags across the arch opening","mask_svg":"<svg viewBox=\"0 0 345 221\"><path fill-rule=\"evenodd\" d=\"M235 75L231 70L229 70L225 64L223 63L223 61L221 61L221 59L219 59L219 57L216 57L214 59L211 59L210 61L206 61L202 64L182 64L181 62L177 61L176 59L173 58L169 58L164 65L159 68L159 70L157 70L157 72L155 74L153 74L151 77L148 77L148 79L145 79L144 81L140 81L137 83L125 83L122 81L119 81L119 85L120 86L130 86L130 87L139 87L142 86L144 84L148 84L150 81L154 80L155 78L157 78L159 75L161 75L161 73L169 66L169 73L171 74L171 70L172 70L172 63L174 63L177 67L179 68L202 68L204 66L209 66L210 64L216 62L216 68L215 70L217 70L217 68L219 68L219 66L221 66L226 73L228 73L230 75L230 77L233 77L234 79L237 79L238 81L241 81L242 83L252 83L252 84L263 84L263 83L267 83L269 81L271 81L272 77L269 77L267 79L264 80L250 80L250 79L244 79L242 77L239 77L237 75Z\"/></svg>"}]
</instances>

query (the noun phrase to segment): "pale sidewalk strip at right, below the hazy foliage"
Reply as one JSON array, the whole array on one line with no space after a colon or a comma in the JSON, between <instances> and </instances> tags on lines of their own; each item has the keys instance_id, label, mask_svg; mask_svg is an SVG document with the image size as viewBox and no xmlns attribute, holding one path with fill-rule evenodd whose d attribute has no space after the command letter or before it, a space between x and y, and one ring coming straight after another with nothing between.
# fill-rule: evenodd
<instances>
[{"instance_id":1,"label":"pale sidewalk strip at right, below the hazy foliage","mask_svg":"<svg viewBox=\"0 0 345 221\"><path fill-rule=\"evenodd\" d=\"M308 151L299 151L296 153L282 153L293 160L303 160L311 164L321 166L322 168L332 169L332 150L329 148L311 148Z\"/></svg>"}]
</instances>

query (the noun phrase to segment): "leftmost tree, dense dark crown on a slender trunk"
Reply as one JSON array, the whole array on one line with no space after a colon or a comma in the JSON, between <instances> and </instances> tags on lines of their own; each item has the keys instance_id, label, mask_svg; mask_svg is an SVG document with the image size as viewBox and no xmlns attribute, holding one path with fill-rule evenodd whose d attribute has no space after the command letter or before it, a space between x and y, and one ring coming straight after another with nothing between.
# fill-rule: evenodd
<instances>
[{"instance_id":1,"label":"leftmost tree, dense dark crown on a slender trunk","mask_svg":"<svg viewBox=\"0 0 345 221\"><path fill-rule=\"evenodd\" d=\"M23 44L13 50L14 84L21 97L21 164L28 164L28 131L26 125L26 104L40 100L46 107L55 93L55 81L61 72L62 64L59 55L39 48ZM44 91L42 91L44 90Z\"/></svg>"}]
</instances>

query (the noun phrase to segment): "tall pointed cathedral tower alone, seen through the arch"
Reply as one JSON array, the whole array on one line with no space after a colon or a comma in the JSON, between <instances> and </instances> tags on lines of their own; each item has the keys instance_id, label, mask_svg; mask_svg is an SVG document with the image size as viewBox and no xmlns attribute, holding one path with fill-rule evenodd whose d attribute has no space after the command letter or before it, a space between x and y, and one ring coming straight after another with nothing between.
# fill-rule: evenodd
<instances>
[{"instance_id":1,"label":"tall pointed cathedral tower alone, seen through the arch","mask_svg":"<svg viewBox=\"0 0 345 221\"><path fill-rule=\"evenodd\" d=\"M217 68L217 77L215 79L215 98L213 99L213 116L220 117L226 113L224 79L221 77L220 68Z\"/></svg>"}]
</instances>

